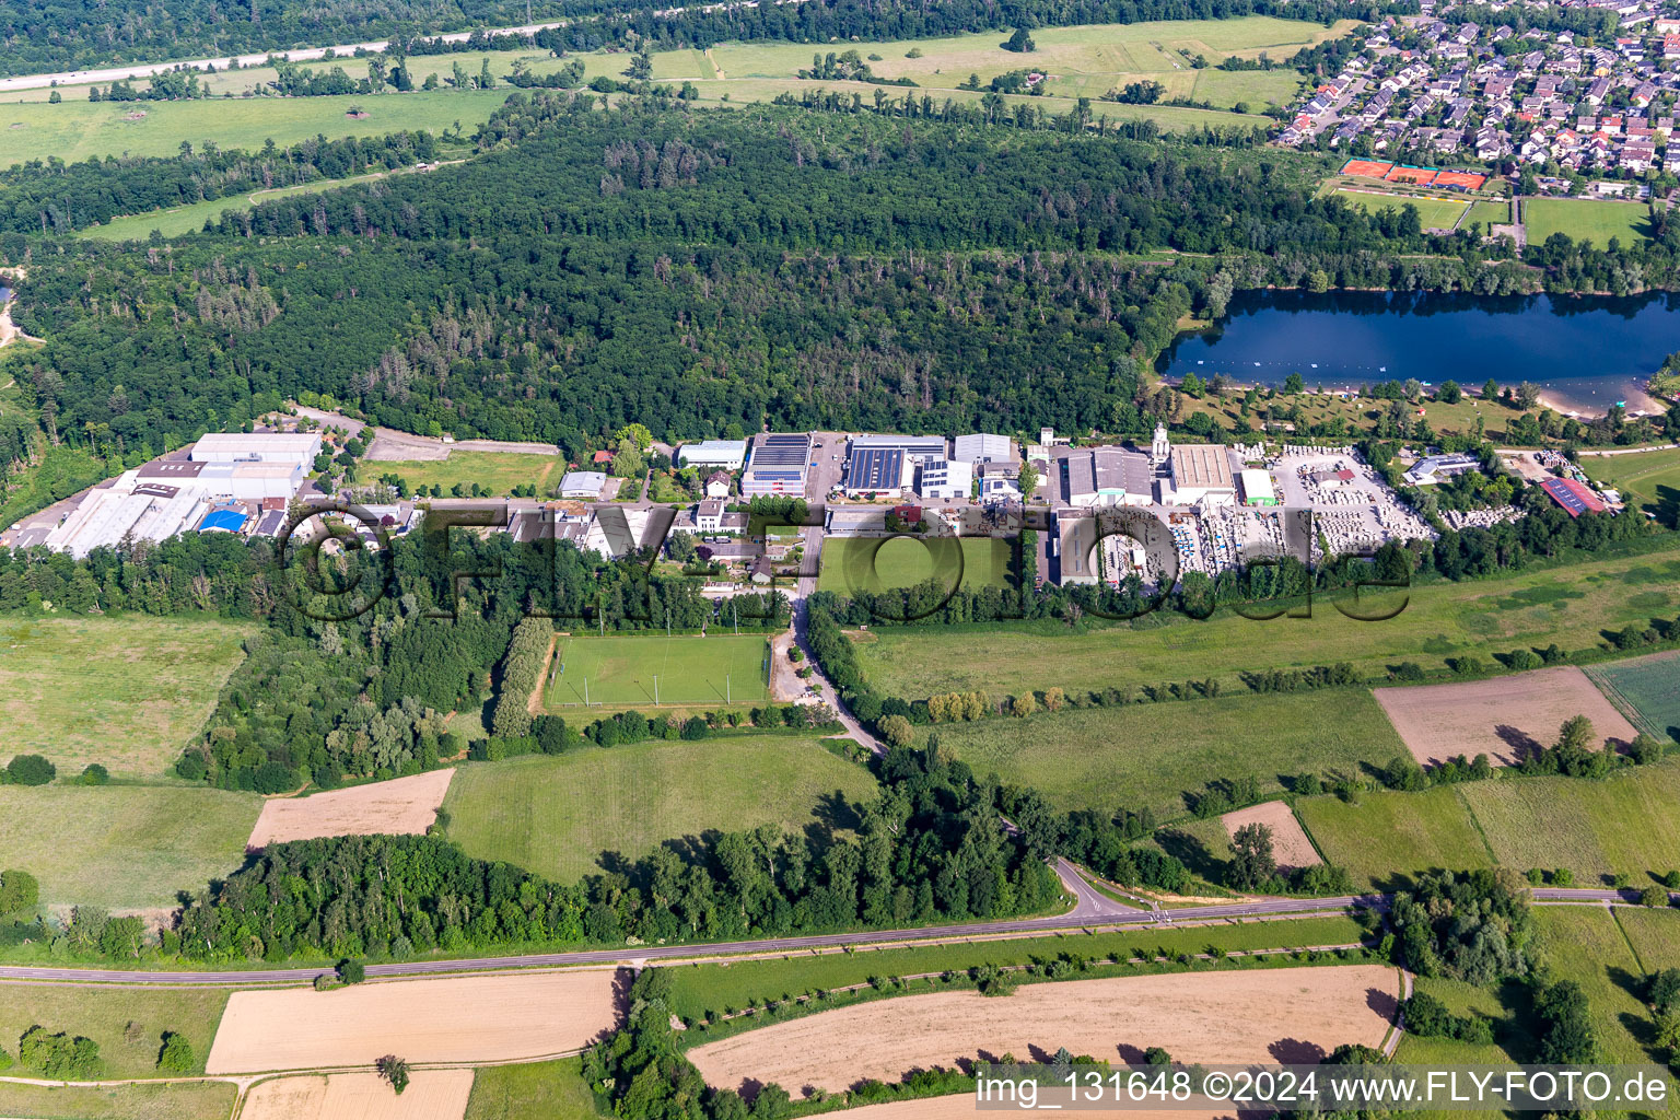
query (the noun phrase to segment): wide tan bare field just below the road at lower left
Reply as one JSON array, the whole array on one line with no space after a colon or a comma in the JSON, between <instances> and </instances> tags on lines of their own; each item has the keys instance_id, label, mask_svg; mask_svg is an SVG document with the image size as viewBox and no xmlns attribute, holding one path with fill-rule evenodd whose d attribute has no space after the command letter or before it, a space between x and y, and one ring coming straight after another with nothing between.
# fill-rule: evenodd
<instances>
[{"instance_id":1,"label":"wide tan bare field just below the road at lower left","mask_svg":"<svg viewBox=\"0 0 1680 1120\"><path fill-rule=\"evenodd\" d=\"M612 969L234 992L208 1073L546 1058L618 1023Z\"/></svg>"}]
</instances>

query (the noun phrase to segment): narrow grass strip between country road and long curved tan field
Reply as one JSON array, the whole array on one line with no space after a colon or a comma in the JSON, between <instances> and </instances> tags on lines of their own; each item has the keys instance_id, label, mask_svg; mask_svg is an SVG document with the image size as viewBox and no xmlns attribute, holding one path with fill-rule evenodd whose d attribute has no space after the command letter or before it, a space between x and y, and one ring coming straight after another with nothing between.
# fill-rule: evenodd
<instances>
[{"instance_id":1,"label":"narrow grass strip between country road and long curved tan field","mask_svg":"<svg viewBox=\"0 0 1680 1120\"><path fill-rule=\"evenodd\" d=\"M1127 934L1065 934L1062 937L983 940L911 949L860 949L857 952L810 954L776 960L677 966L672 967L672 1011L689 1019L701 1019L709 1011L722 1011L724 1007L739 1009L766 999L865 984L874 976L959 972L981 964L1053 960L1062 954L1102 957L1121 952L1126 957L1152 959L1161 950L1171 954L1205 952L1210 945L1218 945L1231 952L1351 945L1359 940L1362 940L1362 934L1351 917L1324 917L1290 922L1247 922L1203 929L1134 930ZM470 1110L467 1117L470 1120Z\"/></svg>"}]
</instances>

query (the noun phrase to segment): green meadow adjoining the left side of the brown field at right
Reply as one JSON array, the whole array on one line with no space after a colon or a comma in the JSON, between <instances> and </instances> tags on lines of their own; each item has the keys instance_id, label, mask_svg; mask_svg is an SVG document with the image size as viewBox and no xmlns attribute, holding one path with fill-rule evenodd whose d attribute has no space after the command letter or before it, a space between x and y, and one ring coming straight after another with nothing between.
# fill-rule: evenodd
<instances>
[{"instance_id":1,"label":"green meadow adjoining the left side of the brown field at right","mask_svg":"<svg viewBox=\"0 0 1680 1120\"><path fill-rule=\"evenodd\" d=\"M1233 695L1040 712L1028 719L942 724L976 774L1035 786L1060 809L1154 809L1184 814L1183 793L1253 776L1268 793L1280 776L1357 771L1403 754L1369 692Z\"/></svg>"}]
</instances>

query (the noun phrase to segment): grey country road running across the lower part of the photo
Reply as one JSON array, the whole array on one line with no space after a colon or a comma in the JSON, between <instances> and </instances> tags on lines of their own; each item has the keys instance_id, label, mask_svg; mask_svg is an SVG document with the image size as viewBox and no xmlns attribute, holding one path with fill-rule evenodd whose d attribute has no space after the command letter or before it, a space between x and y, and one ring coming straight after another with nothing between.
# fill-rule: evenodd
<instances>
[{"instance_id":1,"label":"grey country road running across the lower part of the photo","mask_svg":"<svg viewBox=\"0 0 1680 1120\"><path fill-rule=\"evenodd\" d=\"M1062 868L1058 868L1062 870ZM1065 873L1065 871L1063 871ZM1534 900L1552 905L1608 905L1613 902L1635 905L1638 892L1537 887ZM1206 907L1181 907L1176 910L1131 910L1095 892L1077 892L1079 903L1067 913L1047 919L1016 919L1011 922L969 922L958 925L931 925L909 930L864 930L853 934L816 934L811 937L773 937L764 940L734 940L684 945L635 945L623 949L591 949L580 952L546 952L512 957L474 957L455 960L405 960L396 964L370 964L370 977L440 976L457 972L494 972L506 969L559 967L580 964L645 964L652 960L696 959L712 955L743 955L756 952L798 952L801 949L837 949L842 945L882 945L914 940L953 937L981 937L993 934L1055 934L1080 929L1124 929L1129 925L1159 925L1218 922L1228 919L1305 917L1337 910L1383 910L1391 895L1339 895L1332 898L1260 898ZM1672 900L1672 897L1670 897ZM148 972L123 969L44 969L0 967L0 981L69 981L89 984L168 984L202 987L244 987L249 984L307 984L331 972L329 967L311 969L249 969L240 972Z\"/></svg>"}]
</instances>

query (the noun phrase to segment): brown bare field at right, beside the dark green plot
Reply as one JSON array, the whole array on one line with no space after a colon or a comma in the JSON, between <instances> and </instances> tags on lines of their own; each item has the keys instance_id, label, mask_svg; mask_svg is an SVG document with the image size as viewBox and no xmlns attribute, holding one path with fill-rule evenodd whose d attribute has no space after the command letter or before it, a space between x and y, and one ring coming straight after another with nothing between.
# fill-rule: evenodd
<instances>
[{"instance_id":1,"label":"brown bare field at right, beside the dark green plot","mask_svg":"<svg viewBox=\"0 0 1680 1120\"><path fill-rule=\"evenodd\" d=\"M1394 730L1418 762L1487 752L1499 766L1557 742L1572 715L1593 720L1599 742L1633 742L1633 724L1574 665L1536 668L1462 685L1373 688Z\"/></svg>"}]
</instances>

